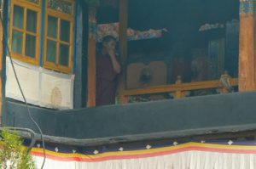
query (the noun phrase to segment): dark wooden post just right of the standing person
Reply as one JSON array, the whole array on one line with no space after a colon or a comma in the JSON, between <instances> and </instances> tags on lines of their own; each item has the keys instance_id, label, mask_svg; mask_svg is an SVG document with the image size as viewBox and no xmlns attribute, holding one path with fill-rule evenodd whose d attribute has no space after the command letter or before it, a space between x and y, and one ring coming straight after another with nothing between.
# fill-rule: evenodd
<instances>
[{"instance_id":1,"label":"dark wooden post just right of the standing person","mask_svg":"<svg viewBox=\"0 0 256 169\"><path fill-rule=\"evenodd\" d=\"M119 79L119 103L125 104L125 69L127 59L127 20L128 20L128 0L119 0L119 47L120 60L122 65L122 75Z\"/></svg>"}]
</instances>

